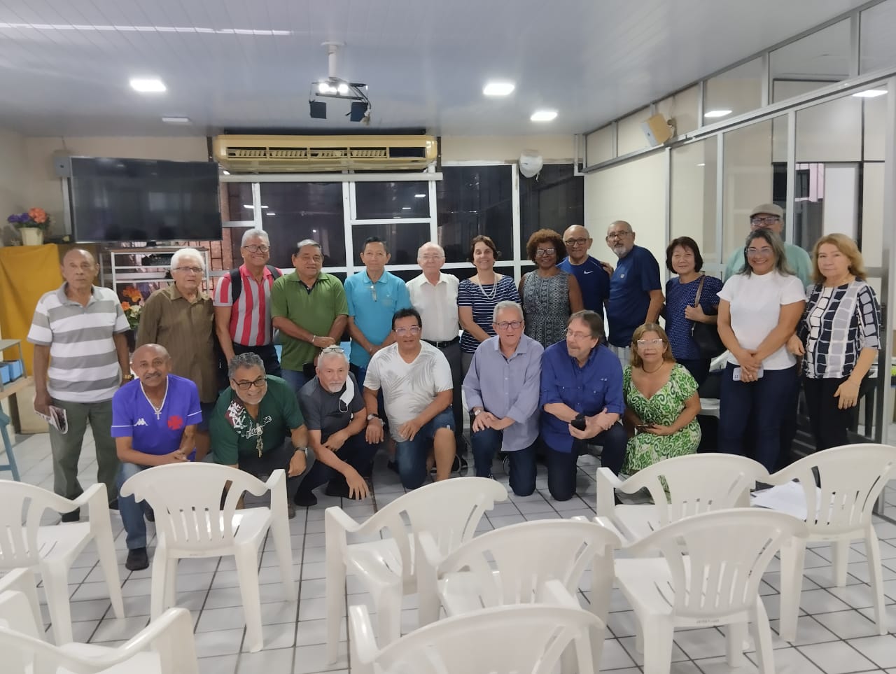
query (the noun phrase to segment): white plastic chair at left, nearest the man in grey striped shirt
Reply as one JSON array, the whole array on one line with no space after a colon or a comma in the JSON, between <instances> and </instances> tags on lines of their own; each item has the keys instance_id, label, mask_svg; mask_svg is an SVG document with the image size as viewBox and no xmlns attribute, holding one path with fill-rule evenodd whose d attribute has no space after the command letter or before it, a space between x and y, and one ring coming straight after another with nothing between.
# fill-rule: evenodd
<instances>
[{"instance_id":1,"label":"white plastic chair at left, nearest the man in grey striped shirt","mask_svg":"<svg viewBox=\"0 0 896 674\"><path fill-rule=\"evenodd\" d=\"M69 513L83 506L88 522L40 526L45 510ZM90 540L96 543L116 618L125 617L105 485L95 484L70 500L34 485L0 480L0 531L0 569L40 573L56 644L72 641L68 571Z\"/></svg>"}]
</instances>

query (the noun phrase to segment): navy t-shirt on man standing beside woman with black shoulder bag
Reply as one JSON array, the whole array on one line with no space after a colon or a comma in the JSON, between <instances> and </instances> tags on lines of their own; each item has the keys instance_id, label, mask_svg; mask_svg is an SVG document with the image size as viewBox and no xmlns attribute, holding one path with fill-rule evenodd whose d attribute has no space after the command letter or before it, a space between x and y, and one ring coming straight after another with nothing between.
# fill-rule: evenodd
<instances>
[{"instance_id":1,"label":"navy t-shirt on man standing beside woman with black shoulder bag","mask_svg":"<svg viewBox=\"0 0 896 674\"><path fill-rule=\"evenodd\" d=\"M633 246L619 259L610 277L607 302L608 341L613 346L631 346L634 329L643 324L650 307L650 290L662 289L659 264L647 248Z\"/></svg>"}]
</instances>

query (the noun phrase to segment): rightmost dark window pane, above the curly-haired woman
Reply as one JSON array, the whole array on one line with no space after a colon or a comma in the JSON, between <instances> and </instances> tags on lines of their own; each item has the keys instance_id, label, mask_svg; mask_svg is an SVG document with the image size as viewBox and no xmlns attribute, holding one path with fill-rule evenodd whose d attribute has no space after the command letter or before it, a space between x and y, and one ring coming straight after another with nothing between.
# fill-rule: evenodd
<instances>
[{"instance_id":1,"label":"rightmost dark window pane, above the curly-haired woman","mask_svg":"<svg viewBox=\"0 0 896 674\"><path fill-rule=\"evenodd\" d=\"M520 178L520 236L522 255L526 242L543 227L563 235L570 225L585 222L585 184L573 176L572 164L546 164L538 179Z\"/></svg>"}]
</instances>

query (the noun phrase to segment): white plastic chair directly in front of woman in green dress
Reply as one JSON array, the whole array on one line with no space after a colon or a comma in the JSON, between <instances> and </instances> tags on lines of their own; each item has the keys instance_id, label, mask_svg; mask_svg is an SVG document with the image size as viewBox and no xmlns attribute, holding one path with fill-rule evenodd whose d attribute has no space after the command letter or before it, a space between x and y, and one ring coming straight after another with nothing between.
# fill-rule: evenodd
<instances>
[{"instance_id":1,"label":"white plastic chair directly in front of woman in green dress","mask_svg":"<svg viewBox=\"0 0 896 674\"><path fill-rule=\"evenodd\" d=\"M768 481L761 463L736 454L689 454L654 463L622 481L607 468L597 473L597 516L605 517L629 541L683 517L725 508L748 507L756 481ZM668 493L665 485L668 487ZM653 504L614 505L618 489L647 488Z\"/></svg>"}]
</instances>

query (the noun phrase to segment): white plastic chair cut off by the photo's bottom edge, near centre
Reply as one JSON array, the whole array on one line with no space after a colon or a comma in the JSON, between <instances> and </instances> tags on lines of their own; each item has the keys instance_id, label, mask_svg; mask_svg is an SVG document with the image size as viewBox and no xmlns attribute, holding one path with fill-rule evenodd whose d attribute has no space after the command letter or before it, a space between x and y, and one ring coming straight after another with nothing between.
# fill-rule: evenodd
<instances>
[{"instance_id":1,"label":"white plastic chair cut off by the photo's bottom edge, near centre","mask_svg":"<svg viewBox=\"0 0 896 674\"><path fill-rule=\"evenodd\" d=\"M355 674L551 674L567 647L574 649L576 672L596 674L599 656L591 643L602 640L604 629L559 581L546 584L539 603L446 618L383 648L376 645L366 606L349 607ZM599 638L589 638L590 632Z\"/></svg>"}]
</instances>

